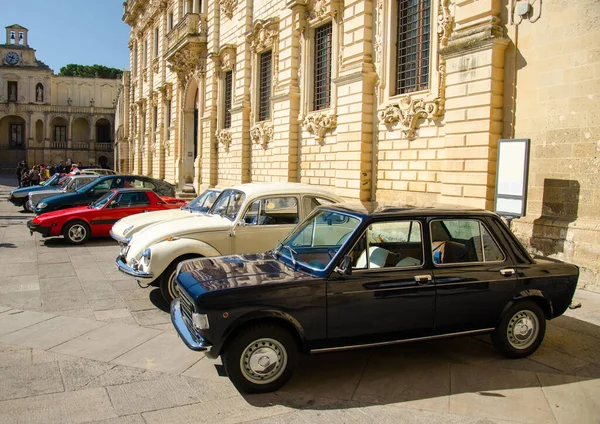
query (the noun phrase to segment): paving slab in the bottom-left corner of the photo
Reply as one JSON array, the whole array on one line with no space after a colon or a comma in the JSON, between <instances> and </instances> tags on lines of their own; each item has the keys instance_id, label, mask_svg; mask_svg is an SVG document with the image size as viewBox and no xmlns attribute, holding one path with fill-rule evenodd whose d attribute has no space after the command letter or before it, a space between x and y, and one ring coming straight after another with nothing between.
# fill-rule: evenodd
<instances>
[{"instance_id":1,"label":"paving slab in the bottom-left corner of the photo","mask_svg":"<svg viewBox=\"0 0 600 424\"><path fill-rule=\"evenodd\" d=\"M116 418L104 388L32 396L0 402L0 422L31 424L85 423Z\"/></svg>"}]
</instances>

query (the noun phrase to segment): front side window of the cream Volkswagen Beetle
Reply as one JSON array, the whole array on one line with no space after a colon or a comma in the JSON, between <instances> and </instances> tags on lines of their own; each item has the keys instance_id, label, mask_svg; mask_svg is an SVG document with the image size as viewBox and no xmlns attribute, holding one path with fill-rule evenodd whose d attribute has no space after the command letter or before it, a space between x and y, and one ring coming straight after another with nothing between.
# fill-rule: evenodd
<instances>
[{"instance_id":1,"label":"front side window of the cream Volkswagen Beetle","mask_svg":"<svg viewBox=\"0 0 600 424\"><path fill-rule=\"evenodd\" d=\"M272 197L254 201L244 222L251 225L284 225L298 223L298 200L295 197Z\"/></svg>"}]
</instances>

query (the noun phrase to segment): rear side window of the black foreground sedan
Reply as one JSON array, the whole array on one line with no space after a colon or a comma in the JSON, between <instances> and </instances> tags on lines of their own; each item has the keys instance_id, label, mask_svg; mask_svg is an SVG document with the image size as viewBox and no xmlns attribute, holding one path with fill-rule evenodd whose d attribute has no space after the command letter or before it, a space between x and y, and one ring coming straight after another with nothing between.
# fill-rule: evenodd
<instances>
[{"instance_id":1,"label":"rear side window of the black foreground sedan","mask_svg":"<svg viewBox=\"0 0 600 424\"><path fill-rule=\"evenodd\" d=\"M436 230L438 228L438 230ZM439 231L444 228L445 231ZM435 264L498 262L504 254L483 223L476 219L438 220L431 223ZM442 235L442 238L436 238Z\"/></svg>"}]
</instances>

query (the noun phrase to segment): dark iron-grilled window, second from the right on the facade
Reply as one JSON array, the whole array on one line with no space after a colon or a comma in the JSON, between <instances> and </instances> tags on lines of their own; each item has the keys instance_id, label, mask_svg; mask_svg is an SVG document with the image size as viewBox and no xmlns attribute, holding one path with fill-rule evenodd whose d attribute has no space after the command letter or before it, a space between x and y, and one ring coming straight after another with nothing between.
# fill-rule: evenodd
<instances>
[{"instance_id":1,"label":"dark iron-grilled window, second from the right on the facade","mask_svg":"<svg viewBox=\"0 0 600 424\"><path fill-rule=\"evenodd\" d=\"M331 22L315 29L314 110L327 109L331 100Z\"/></svg>"}]
</instances>

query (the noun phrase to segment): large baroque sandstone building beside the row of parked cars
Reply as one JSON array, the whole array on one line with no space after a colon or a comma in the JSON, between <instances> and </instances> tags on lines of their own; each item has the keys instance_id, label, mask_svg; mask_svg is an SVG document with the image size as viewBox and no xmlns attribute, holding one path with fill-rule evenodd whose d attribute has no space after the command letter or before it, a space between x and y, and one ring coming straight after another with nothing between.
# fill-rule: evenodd
<instances>
[{"instance_id":1,"label":"large baroque sandstone building beside the row of parked cars","mask_svg":"<svg viewBox=\"0 0 600 424\"><path fill-rule=\"evenodd\" d=\"M201 190L301 181L493 209L530 139L532 250L599 284L596 0L128 0L119 165Z\"/></svg>"}]
</instances>

